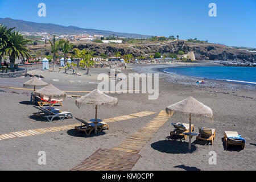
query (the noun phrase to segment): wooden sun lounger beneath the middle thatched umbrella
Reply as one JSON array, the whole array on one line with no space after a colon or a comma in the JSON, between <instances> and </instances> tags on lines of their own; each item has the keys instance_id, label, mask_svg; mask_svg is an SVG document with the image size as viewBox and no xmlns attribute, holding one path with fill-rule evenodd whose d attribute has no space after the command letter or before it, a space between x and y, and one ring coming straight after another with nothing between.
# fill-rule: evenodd
<instances>
[{"instance_id":1,"label":"wooden sun lounger beneath the middle thatched umbrella","mask_svg":"<svg viewBox=\"0 0 256 182\"><path fill-rule=\"evenodd\" d=\"M79 118L75 118L77 121L81 122L81 126L75 126L75 129L77 132L84 132L87 136L90 135L90 133L92 133L92 131L95 129L95 124L93 122L86 122L82 119ZM84 124L84 125L83 125ZM104 122L99 122L97 124L97 128L99 128L99 132L101 132L103 129L105 130L109 130L109 125L108 123L104 123Z\"/></svg>"}]
</instances>

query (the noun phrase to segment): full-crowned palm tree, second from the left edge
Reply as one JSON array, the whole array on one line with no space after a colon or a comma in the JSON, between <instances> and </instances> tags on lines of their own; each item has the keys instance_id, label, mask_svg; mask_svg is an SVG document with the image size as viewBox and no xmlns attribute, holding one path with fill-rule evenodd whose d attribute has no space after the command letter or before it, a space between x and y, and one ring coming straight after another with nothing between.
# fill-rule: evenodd
<instances>
[{"instance_id":1,"label":"full-crowned palm tree, second from the left edge","mask_svg":"<svg viewBox=\"0 0 256 182\"><path fill-rule=\"evenodd\" d=\"M30 40L25 39L19 32L13 31L8 35L9 43L7 44L6 54L9 55L10 68L13 69L15 59L22 57L30 57L30 50L26 47L26 44L30 43Z\"/></svg>"}]
</instances>

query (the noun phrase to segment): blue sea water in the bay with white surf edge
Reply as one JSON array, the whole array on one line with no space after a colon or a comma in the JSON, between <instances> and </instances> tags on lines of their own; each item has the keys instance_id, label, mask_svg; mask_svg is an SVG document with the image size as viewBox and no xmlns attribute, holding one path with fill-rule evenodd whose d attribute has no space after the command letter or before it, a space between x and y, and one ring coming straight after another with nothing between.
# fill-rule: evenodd
<instances>
[{"instance_id":1,"label":"blue sea water in the bay with white surf edge","mask_svg":"<svg viewBox=\"0 0 256 182\"><path fill-rule=\"evenodd\" d=\"M178 75L256 84L255 67L176 67L163 69L167 73Z\"/></svg>"}]
</instances>

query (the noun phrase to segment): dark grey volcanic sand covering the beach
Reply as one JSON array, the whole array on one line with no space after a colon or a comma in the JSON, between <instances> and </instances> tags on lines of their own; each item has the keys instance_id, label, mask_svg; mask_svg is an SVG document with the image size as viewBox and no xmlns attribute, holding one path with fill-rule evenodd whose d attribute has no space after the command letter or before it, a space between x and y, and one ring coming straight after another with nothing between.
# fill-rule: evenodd
<instances>
[{"instance_id":1,"label":"dark grey volcanic sand covering the beach","mask_svg":"<svg viewBox=\"0 0 256 182\"><path fill-rule=\"evenodd\" d=\"M159 67L131 64L123 73L157 72L156 68ZM62 90L91 91L97 88L99 82L97 75L108 72L109 69L105 68L90 69L91 76L83 75L81 77L71 75L71 71L68 72L68 75L39 69L30 73L43 75L46 77L44 81ZM85 73L85 71L81 71L81 73ZM99 117L102 119L113 118L146 110L159 113L167 106L193 96L211 107L214 113L214 121L211 123L193 121L196 133L198 133L198 127L214 128L216 129L216 140L213 146L207 146L196 144L195 138L193 138L193 152L188 153L188 139L180 141L168 138L170 131L173 130L172 122L186 121L171 118L139 153L142 158L139 159L133 170L255 170L255 90L239 89L237 91L236 88L230 89L233 86L222 88L222 86L216 86L217 84L201 88L185 84L186 80L182 80L182 78L172 78L178 79L177 82L166 79L165 76L160 76L158 100L148 100L148 94L110 94L110 96L117 97L119 103L115 107L100 107ZM0 86L21 88L22 83L27 80L29 80L28 77L1 78ZM226 85L226 83L224 84ZM30 100L29 96L30 91L28 90L0 88L0 109L2 111L0 134L77 123L75 119L48 123L31 117L36 110L27 102ZM75 105L75 100L76 98L66 98L61 110L70 111L75 117L86 120L94 117L92 107L79 110ZM92 155L98 148L118 146L126 137L133 135L155 116L156 114L128 121L113 122L109 124L110 130L99 135L93 134L90 137L77 134L75 130L69 130L0 140L0 170L69 170ZM239 147L224 150L222 142L224 131L238 131L246 139L245 150L241 151ZM47 165L40 166L38 164L39 151L46 151ZM210 151L217 153L217 165L208 163Z\"/></svg>"}]
</instances>

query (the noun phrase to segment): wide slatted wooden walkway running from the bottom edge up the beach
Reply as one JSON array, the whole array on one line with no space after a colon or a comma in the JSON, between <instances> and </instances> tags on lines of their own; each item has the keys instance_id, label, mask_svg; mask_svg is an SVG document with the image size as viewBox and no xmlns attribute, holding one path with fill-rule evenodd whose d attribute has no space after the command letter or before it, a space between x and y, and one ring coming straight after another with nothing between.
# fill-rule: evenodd
<instances>
[{"instance_id":1,"label":"wide slatted wooden walkway running from the bottom edge up the beach","mask_svg":"<svg viewBox=\"0 0 256 182\"><path fill-rule=\"evenodd\" d=\"M155 133L170 119L166 111L125 139L118 147L100 148L71 171L130 171L141 158L138 153Z\"/></svg>"}]
</instances>

